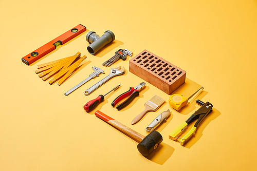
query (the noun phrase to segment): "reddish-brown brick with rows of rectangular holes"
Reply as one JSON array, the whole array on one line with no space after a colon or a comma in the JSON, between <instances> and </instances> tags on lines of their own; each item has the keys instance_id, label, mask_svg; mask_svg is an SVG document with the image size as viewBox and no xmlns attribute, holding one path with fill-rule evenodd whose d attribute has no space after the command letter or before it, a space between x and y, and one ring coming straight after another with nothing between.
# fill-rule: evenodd
<instances>
[{"instance_id":1,"label":"reddish-brown brick with rows of rectangular holes","mask_svg":"<svg viewBox=\"0 0 257 171\"><path fill-rule=\"evenodd\" d=\"M148 50L143 50L130 60L130 72L167 94L171 94L186 80L185 70Z\"/></svg>"}]
</instances>

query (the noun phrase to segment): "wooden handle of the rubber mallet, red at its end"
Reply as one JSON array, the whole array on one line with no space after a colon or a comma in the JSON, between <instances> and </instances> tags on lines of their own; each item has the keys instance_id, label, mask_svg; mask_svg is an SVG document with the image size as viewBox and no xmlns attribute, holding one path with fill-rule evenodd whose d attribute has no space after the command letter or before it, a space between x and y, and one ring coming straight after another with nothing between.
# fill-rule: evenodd
<instances>
[{"instance_id":1,"label":"wooden handle of the rubber mallet, red at its end","mask_svg":"<svg viewBox=\"0 0 257 171\"><path fill-rule=\"evenodd\" d=\"M95 115L102 119L103 121L107 122L108 124L112 125L113 127L117 128L119 131L123 132L123 134L127 135L128 137L131 137L138 143L141 142L145 137L135 130L123 125L122 123L116 121L115 119L105 115L103 112L97 110L95 112Z\"/></svg>"}]
</instances>

